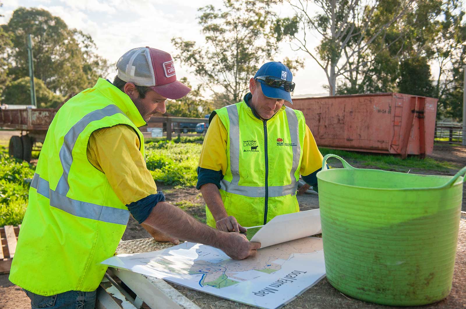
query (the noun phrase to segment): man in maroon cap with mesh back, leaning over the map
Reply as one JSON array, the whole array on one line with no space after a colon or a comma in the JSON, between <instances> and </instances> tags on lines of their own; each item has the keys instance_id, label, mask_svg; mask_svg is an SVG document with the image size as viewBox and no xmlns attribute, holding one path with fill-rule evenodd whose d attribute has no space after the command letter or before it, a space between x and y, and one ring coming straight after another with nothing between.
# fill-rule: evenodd
<instances>
[{"instance_id":1,"label":"man in maroon cap with mesh back, leaning over the map","mask_svg":"<svg viewBox=\"0 0 466 309\"><path fill-rule=\"evenodd\" d=\"M117 70L113 84L99 78L67 101L47 132L9 277L33 309L94 308L100 262L115 253L130 213L159 241L199 242L237 260L260 247L166 203L146 168L138 127L191 90L170 54L131 49Z\"/></svg>"}]
</instances>

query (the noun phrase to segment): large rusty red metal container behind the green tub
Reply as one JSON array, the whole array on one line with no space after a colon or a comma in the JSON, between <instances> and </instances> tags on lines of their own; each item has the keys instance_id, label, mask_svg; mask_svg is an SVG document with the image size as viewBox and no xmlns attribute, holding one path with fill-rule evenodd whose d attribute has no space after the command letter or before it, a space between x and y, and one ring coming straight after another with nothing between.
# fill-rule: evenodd
<instances>
[{"instance_id":1,"label":"large rusty red metal container behind the green tub","mask_svg":"<svg viewBox=\"0 0 466 309\"><path fill-rule=\"evenodd\" d=\"M319 147L377 153L432 154L437 98L403 93L293 98Z\"/></svg>"}]
</instances>

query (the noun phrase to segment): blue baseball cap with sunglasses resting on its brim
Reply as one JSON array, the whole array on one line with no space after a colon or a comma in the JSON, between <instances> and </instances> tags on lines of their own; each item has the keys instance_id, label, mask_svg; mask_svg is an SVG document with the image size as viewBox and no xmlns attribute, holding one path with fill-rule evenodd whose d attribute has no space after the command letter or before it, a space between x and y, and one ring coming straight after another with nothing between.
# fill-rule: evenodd
<instances>
[{"instance_id":1,"label":"blue baseball cap with sunglasses resting on its brim","mask_svg":"<svg viewBox=\"0 0 466 309\"><path fill-rule=\"evenodd\" d=\"M254 75L254 79L259 76L274 76L288 82L293 80L293 74L291 74L291 71L288 69L288 67L281 62L275 61L267 62L262 65L257 71L256 75ZM281 85L280 88L274 88L272 86L260 83L260 87L262 89L262 93L264 93L267 98L278 98L293 104L293 101L291 101L290 92L286 91L283 85Z\"/></svg>"}]
</instances>

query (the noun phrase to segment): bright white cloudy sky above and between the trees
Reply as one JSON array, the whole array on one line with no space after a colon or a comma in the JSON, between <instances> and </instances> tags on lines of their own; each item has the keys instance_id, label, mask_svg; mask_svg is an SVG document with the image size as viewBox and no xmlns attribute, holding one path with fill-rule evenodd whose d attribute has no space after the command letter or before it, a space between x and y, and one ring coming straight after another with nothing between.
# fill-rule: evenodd
<instances>
[{"instance_id":1,"label":"bright white cloudy sky above and between the trees","mask_svg":"<svg viewBox=\"0 0 466 309\"><path fill-rule=\"evenodd\" d=\"M129 49L150 46L171 54L177 50L171 44L173 37L203 44L197 9L207 4L220 7L222 0L2 0L0 24L7 23L18 7L38 7L59 16L70 28L77 28L91 35L97 45L97 53L116 63ZM466 0L463 0L466 7ZM283 5L277 9L281 17L290 16L292 9ZM314 46L317 45L317 40ZM328 84L324 71L303 51L293 51L288 43L281 43L278 59L301 57L304 69L293 74L296 83L294 95L327 93ZM274 61L275 59L269 59ZM175 60L177 78L187 77L194 86L199 80L190 68ZM435 68L432 68L435 71ZM109 76L113 78L113 74Z\"/></svg>"}]
</instances>

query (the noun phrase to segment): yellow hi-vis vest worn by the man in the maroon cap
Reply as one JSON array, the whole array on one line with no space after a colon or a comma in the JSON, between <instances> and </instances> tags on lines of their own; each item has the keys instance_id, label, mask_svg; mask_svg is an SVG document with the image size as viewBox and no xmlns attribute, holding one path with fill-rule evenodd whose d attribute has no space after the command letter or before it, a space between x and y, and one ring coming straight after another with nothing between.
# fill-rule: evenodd
<instances>
[{"instance_id":1,"label":"yellow hi-vis vest worn by the man in the maroon cap","mask_svg":"<svg viewBox=\"0 0 466 309\"><path fill-rule=\"evenodd\" d=\"M55 115L29 190L10 281L39 295L94 291L128 223L128 208L87 158L92 132L125 124L144 140L131 99L105 79Z\"/></svg>"}]
</instances>

